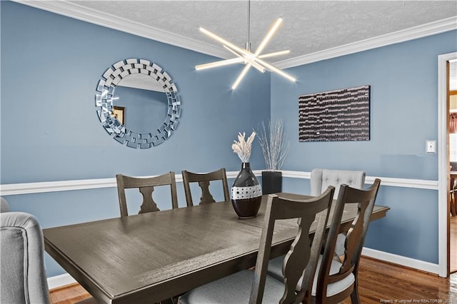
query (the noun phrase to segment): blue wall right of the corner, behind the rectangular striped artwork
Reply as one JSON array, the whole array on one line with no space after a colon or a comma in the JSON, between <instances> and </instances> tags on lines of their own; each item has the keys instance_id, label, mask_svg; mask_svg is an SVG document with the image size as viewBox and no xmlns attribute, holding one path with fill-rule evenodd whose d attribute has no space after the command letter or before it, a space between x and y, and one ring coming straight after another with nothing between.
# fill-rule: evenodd
<instances>
[{"instance_id":1,"label":"blue wall right of the corner, behind the rectangular striped artwork","mask_svg":"<svg viewBox=\"0 0 457 304\"><path fill-rule=\"evenodd\" d=\"M438 180L438 55L457 51L457 31L288 69L290 83L271 76L271 116L283 118L291 138L285 170L333 168L367 176ZM298 142L298 96L371 86L371 140ZM285 191L307 193L308 183L286 181ZM381 183L382 184L382 183ZM438 263L438 192L381 186L376 202L388 216L373 222L366 247Z\"/></svg>"}]
</instances>

